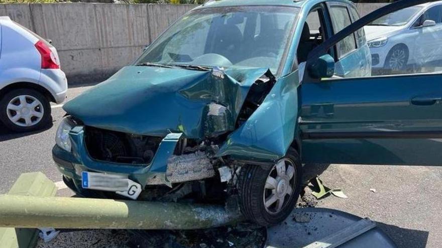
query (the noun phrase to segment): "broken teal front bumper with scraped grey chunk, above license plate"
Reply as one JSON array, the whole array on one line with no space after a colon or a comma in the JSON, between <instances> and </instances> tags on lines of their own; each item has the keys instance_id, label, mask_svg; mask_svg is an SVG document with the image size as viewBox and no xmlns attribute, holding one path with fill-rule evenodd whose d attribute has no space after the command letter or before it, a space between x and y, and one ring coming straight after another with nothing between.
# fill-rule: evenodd
<instances>
[{"instance_id":1,"label":"broken teal front bumper with scraped grey chunk, above license plate","mask_svg":"<svg viewBox=\"0 0 442 248\"><path fill-rule=\"evenodd\" d=\"M210 178L215 175L209 155L202 151L174 155L182 133L170 133L159 144L157 152L148 164L125 164L96 160L89 155L84 139L84 126L76 126L69 136L72 152L54 146L53 159L65 181L75 191L85 191L81 186L83 171L127 176L128 179L147 185L167 185Z\"/></svg>"}]
</instances>

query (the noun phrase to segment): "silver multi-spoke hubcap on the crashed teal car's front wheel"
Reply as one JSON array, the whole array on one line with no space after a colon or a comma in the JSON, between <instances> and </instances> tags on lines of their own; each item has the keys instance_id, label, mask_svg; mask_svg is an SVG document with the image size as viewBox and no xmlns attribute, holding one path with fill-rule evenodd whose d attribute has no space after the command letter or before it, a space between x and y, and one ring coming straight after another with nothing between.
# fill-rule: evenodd
<instances>
[{"instance_id":1,"label":"silver multi-spoke hubcap on the crashed teal car's front wheel","mask_svg":"<svg viewBox=\"0 0 442 248\"><path fill-rule=\"evenodd\" d=\"M296 170L294 163L283 158L267 176L264 188L264 207L271 214L279 213L290 201L295 190Z\"/></svg>"}]
</instances>

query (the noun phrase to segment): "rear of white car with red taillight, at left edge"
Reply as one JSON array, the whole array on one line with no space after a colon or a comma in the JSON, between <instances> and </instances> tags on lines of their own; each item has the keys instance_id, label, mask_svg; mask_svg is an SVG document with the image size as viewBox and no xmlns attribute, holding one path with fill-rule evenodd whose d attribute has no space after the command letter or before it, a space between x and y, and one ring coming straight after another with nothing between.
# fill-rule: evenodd
<instances>
[{"instance_id":1,"label":"rear of white car with red taillight, at left edge","mask_svg":"<svg viewBox=\"0 0 442 248\"><path fill-rule=\"evenodd\" d=\"M0 17L0 121L13 131L48 125L50 102L66 98L57 50L32 31Z\"/></svg>"}]
</instances>

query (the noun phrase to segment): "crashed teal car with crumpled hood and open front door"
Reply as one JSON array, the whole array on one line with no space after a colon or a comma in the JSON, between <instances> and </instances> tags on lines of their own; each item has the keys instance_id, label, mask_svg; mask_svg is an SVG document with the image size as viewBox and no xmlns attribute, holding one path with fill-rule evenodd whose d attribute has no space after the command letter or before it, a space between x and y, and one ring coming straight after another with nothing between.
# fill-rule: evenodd
<instances>
[{"instance_id":1,"label":"crashed teal car with crumpled hood and open front door","mask_svg":"<svg viewBox=\"0 0 442 248\"><path fill-rule=\"evenodd\" d=\"M437 164L440 75L370 77L363 29L423 2L360 19L345 0L209 1L63 106L53 158L82 196L234 204L261 225L309 163Z\"/></svg>"}]
</instances>

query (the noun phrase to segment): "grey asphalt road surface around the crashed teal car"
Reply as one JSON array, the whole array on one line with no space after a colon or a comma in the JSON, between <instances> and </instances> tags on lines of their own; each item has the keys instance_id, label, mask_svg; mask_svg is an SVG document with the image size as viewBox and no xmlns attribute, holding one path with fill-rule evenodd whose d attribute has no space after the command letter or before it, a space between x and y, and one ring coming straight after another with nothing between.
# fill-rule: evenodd
<instances>
[{"instance_id":1,"label":"grey asphalt road surface around the crashed teal car","mask_svg":"<svg viewBox=\"0 0 442 248\"><path fill-rule=\"evenodd\" d=\"M69 89L69 99L87 88ZM55 143L56 128L64 114L60 106L53 106L52 127L34 133L13 134L0 126L0 193L8 192L24 172L42 171L55 182L61 180L51 158L51 149ZM326 197L319 200L318 207L370 217L399 247L440 246L442 167L306 165L305 171L307 177L319 175L324 184L341 188L349 196L348 199ZM58 185L64 188L62 183ZM64 188L59 190L58 195L69 196L72 192ZM100 230L62 233L54 243L40 242L39 247L84 246L85 242L89 247L118 247L123 239ZM114 245L110 245L113 242Z\"/></svg>"}]
</instances>

